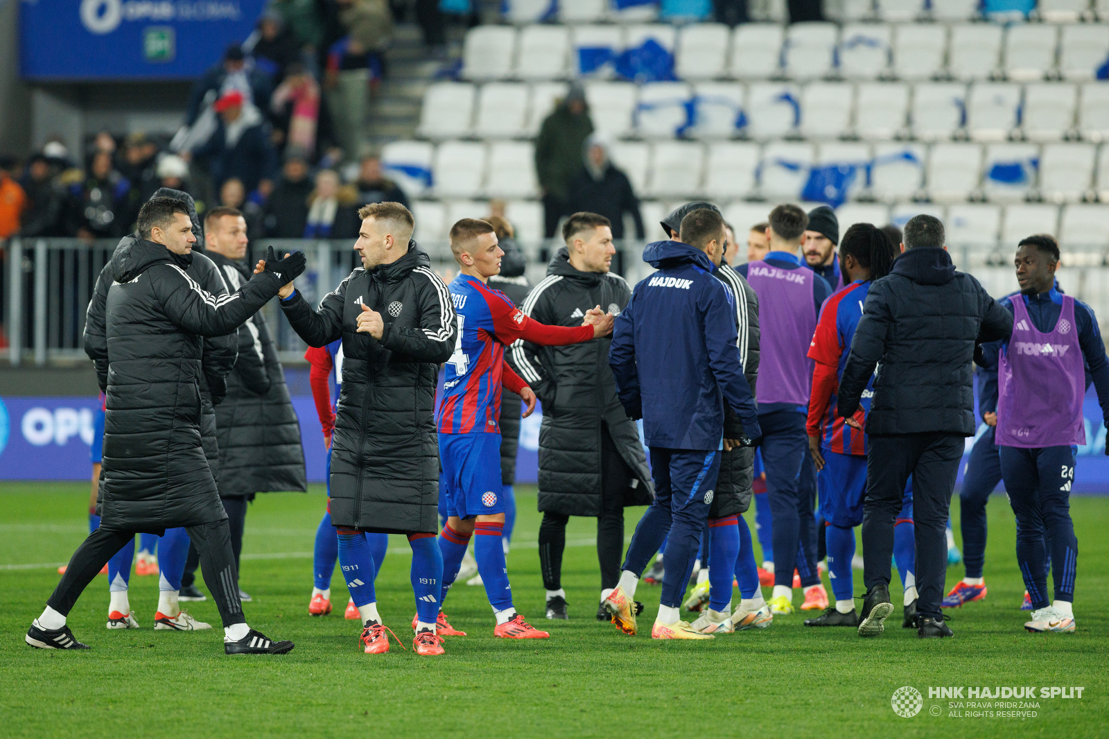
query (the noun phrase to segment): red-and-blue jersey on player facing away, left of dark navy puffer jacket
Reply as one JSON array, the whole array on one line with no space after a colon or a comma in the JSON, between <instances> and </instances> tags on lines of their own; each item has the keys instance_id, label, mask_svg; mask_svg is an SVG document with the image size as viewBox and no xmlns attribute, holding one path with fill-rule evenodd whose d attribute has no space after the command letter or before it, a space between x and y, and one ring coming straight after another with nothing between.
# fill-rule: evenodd
<instances>
[{"instance_id":1,"label":"red-and-blue jersey on player facing away, left of dark navy puffer jacket","mask_svg":"<svg viewBox=\"0 0 1109 739\"><path fill-rule=\"evenodd\" d=\"M851 340L855 336L855 328L863 317L863 304L866 302L869 288L871 281L857 281L833 293L821 308L816 331L808 345L808 357L815 360L817 364L813 378L813 394L808 403L808 433L813 434L815 426L821 435L821 445L838 454L866 455L865 432L852 428L844 418L836 415L836 393L843 378L844 366L847 364ZM834 379L831 377L832 368L835 370ZM825 373L827 381L822 383L821 375ZM864 415L869 412L873 397L872 376L859 401ZM865 423L862 425L866 428Z\"/></svg>"}]
</instances>

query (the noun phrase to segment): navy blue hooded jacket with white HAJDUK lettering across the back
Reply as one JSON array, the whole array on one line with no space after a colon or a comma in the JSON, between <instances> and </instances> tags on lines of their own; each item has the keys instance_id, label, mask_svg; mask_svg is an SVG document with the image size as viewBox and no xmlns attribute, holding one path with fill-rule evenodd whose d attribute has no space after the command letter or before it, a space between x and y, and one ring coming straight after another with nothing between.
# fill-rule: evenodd
<instances>
[{"instance_id":1,"label":"navy blue hooded jacket with white HAJDUK lettering across the back","mask_svg":"<svg viewBox=\"0 0 1109 739\"><path fill-rule=\"evenodd\" d=\"M620 402L643 418L648 446L718 449L724 404L747 437L762 435L736 346L734 296L709 256L658 241L643 250L658 272L635 285L617 317L609 364Z\"/></svg>"}]
</instances>

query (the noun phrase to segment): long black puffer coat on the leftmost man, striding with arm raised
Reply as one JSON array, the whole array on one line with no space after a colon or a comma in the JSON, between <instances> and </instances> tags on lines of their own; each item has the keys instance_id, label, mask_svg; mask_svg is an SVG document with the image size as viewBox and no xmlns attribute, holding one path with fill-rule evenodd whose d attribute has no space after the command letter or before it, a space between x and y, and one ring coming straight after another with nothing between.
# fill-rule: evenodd
<instances>
[{"instance_id":1,"label":"long black puffer coat on the leftmost man, striding with arm raised","mask_svg":"<svg viewBox=\"0 0 1109 739\"><path fill-rule=\"evenodd\" d=\"M150 241L112 256L102 526L162 533L226 518L201 446L202 336L234 333L277 294L272 273L216 298L189 257Z\"/></svg>"}]
</instances>

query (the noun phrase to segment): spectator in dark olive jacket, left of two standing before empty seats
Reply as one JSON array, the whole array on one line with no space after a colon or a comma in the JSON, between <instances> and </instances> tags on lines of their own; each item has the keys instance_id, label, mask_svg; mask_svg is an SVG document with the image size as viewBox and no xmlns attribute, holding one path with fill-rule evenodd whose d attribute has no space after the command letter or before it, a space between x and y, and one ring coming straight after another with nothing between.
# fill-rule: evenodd
<instances>
[{"instance_id":1,"label":"spectator in dark olive jacket, left of two standing before empty seats","mask_svg":"<svg viewBox=\"0 0 1109 739\"><path fill-rule=\"evenodd\" d=\"M570 85L566 98L556 105L539 129L536 139L536 173L543 194L543 236L551 239L567 209L570 183L581 172L581 148L593 132L593 121L586 104L586 90ZM586 210L594 211L590 205ZM619 219L618 219L619 220Z\"/></svg>"}]
</instances>

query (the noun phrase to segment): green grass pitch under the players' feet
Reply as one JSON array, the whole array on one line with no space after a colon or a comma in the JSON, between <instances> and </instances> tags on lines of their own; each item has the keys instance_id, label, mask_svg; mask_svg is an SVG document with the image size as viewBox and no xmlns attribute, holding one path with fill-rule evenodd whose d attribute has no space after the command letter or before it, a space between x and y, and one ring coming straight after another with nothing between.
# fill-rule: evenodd
<instances>
[{"instance_id":1,"label":"green grass pitch under the players' feet","mask_svg":"<svg viewBox=\"0 0 1109 739\"><path fill-rule=\"evenodd\" d=\"M308 495L260 496L246 524L242 586L254 596L246 616L267 636L296 641L293 652L224 657L211 600L190 610L216 629L154 631L157 578L134 576L131 604L143 628L104 628L108 583L98 577L70 615L75 636L92 650L33 650L23 634L58 581L54 563L65 561L84 537L87 490L0 485L0 736L1106 736L1109 498L1071 502L1081 551L1074 635L1034 636L1021 628L1024 587L1004 496L989 506L988 599L953 614L953 640L917 640L899 628L899 607L892 628L871 640L853 629L806 629L802 619L815 614L802 611L777 617L769 629L713 641L627 637L593 619L593 524L581 518L570 524L564 561L572 620L552 624L542 613L535 489L521 486L509 573L517 608L549 629L550 640L494 638L484 590L459 584L446 610L469 636L448 638L445 657L417 658L396 644L388 655L369 656L358 648L357 626L343 619L346 593L338 576L336 613L307 615L313 536L324 506L314 486ZM629 537L641 510L628 512ZM410 647L415 608L406 547L393 537L377 594L386 625ZM41 566L17 568L22 565ZM962 567L949 568L948 586L962 574ZM859 573L855 583L861 591ZM892 589L901 589L896 570ZM647 603L647 630L659 588L642 585L637 597ZM800 607L800 593L794 603ZM902 686L924 694L913 718L891 707ZM1038 715L1020 719L967 716L976 708L966 699L950 709L947 700L928 697L928 687L956 686L1085 690L1081 699L1037 699L1030 710ZM939 716L932 715L936 709Z\"/></svg>"}]
</instances>

